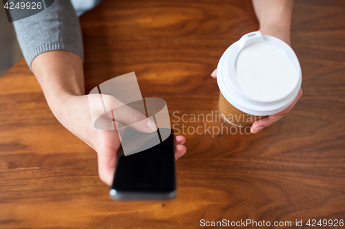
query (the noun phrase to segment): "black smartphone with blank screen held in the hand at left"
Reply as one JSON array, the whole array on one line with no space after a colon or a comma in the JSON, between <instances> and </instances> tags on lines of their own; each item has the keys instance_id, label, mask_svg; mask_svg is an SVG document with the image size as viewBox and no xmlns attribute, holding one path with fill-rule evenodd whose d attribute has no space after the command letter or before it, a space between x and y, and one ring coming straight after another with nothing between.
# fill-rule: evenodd
<instances>
[{"instance_id":1,"label":"black smartphone with blank screen held in the hand at left","mask_svg":"<svg viewBox=\"0 0 345 229\"><path fill-rule=\"evenodd\" d=\"M125 144L121 140L110 197L173 199L176 196L174 131L159 128L155 133L141 133L127 127L123 139L131 141L135 153L124 153Z\"/></svg>"}]
</instances>

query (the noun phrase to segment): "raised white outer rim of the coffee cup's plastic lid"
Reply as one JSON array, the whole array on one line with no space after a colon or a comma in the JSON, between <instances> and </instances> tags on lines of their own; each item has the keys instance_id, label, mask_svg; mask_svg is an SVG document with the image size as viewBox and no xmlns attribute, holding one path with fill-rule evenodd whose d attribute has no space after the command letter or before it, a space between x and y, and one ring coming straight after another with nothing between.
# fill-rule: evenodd
<instances>
[{"instance_id":1,"label":"raised white outer rim of the coffee cup's plastic lid","mask_svg":"<svg viewBox=\"0 0 345 229\"><path fill-rule=\"evenodd\" d=\"M237 77L228 77L229 75L236 76L235 64L239 52L255 43L265 43L277 47L293 63L297 71L297 80L290 94L268 101L255 100L246 95L242 88L238 87L237 79L235 79ZM287 43L274 36L261 34L259 31L250 32L230 45L221 56L217 66L217 84L224 98L240 111L255 116L268 116L283 111L295 100L299 87L302 85L302 69L295 52Z\"/></svg>"}]
</instances>

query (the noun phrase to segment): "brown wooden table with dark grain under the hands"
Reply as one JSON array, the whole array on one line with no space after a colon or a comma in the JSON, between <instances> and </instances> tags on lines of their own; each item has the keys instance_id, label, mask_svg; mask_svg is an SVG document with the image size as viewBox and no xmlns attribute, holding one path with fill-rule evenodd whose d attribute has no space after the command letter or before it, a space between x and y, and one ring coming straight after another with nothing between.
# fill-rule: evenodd
<instances>
[{"instance_id":1,"label":"brown wooden table with dark grain under the hands","mask_svg":"<svg viewBox=\"0 0 345 229\"><path fill-rule=\"evenodd\" d=\"M201 219L309 228L308 219L345 219L344 21L344 1L295 2L304 95L256 135L186 133L173 201L112 201L96 153L55 119L22 59L0 78L0 228L200 228ZM172 124L230 127L215 114L178 120L218 111L210 73L228 45L258 29L250 1L108 0L81 25L86 91L135 72L144 97L166 100Z\"/></svg>"}]
</instances>

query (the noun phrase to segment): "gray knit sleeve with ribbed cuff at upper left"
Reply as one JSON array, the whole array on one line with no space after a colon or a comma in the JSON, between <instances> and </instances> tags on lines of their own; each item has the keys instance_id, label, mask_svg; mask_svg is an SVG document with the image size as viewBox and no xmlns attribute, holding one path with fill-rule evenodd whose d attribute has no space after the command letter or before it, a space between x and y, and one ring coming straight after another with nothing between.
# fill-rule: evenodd
<instances>
[{"instance_id":1,"label":"gray knit sleeve with ribbed cuff at upper left","mask_svg":"<svg viewBox=\"0 0 345 229\"><path fill-rule=\"evenodd\" d=\"M52 50L67 50L83 58L79 19L70 0L55 0L46 10L13 24L30 69L36 56Z\"/></svg>"}]
</instances>

